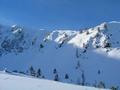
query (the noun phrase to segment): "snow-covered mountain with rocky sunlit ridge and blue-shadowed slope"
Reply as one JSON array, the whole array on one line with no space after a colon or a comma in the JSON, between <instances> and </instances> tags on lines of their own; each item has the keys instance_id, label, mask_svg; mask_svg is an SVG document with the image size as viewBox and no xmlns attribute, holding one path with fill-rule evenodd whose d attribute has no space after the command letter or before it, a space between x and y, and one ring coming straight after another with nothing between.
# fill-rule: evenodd
<instances>
[{"instance_id":1,"label":"snow-covered mountain with rocky sunlit ridge and blue-shadowed slope","mask_svg":"<svg viewBox=\"0 0 120 90\"><path fill-rule=\"evenodd\" d=\"M80 31L0 26L1 70L111 88L120 87L119 68L120 22Z\"/></svg>"}]
</instances>

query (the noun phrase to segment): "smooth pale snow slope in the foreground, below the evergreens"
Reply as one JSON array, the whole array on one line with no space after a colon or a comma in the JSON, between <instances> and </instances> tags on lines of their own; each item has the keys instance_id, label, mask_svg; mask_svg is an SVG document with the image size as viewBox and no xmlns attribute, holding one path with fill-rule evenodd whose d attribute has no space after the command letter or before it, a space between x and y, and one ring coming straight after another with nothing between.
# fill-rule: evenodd
<instances>
[{"instance_id":1,"label":"smooth pale snow slope in the foreground, below the evergreens","mask_svg":"<svg viewBox=\"0 0 120 90\"><path fill-rule=\"evenodd\" d=\"M0 72L0 90L104 90Z\"/></svg>"}]
</instances>

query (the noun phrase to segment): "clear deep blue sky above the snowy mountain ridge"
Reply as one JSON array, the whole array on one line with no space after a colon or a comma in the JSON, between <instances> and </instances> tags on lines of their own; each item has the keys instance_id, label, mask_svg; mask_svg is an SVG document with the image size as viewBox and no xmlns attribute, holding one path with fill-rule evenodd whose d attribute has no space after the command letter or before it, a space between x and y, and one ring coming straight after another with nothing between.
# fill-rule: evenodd
<instances>
[{"instance_id":1,"label":"clear deep blue sky above the snowy mountain ridge","mask_svg":"<svg viewBox=\"0 0 120 90\"><path fill-rule=\"evenodd\" d=\"M120 21L120 0L0 0L0 23L79 29Z\"/></svg>"}]
</instances>

